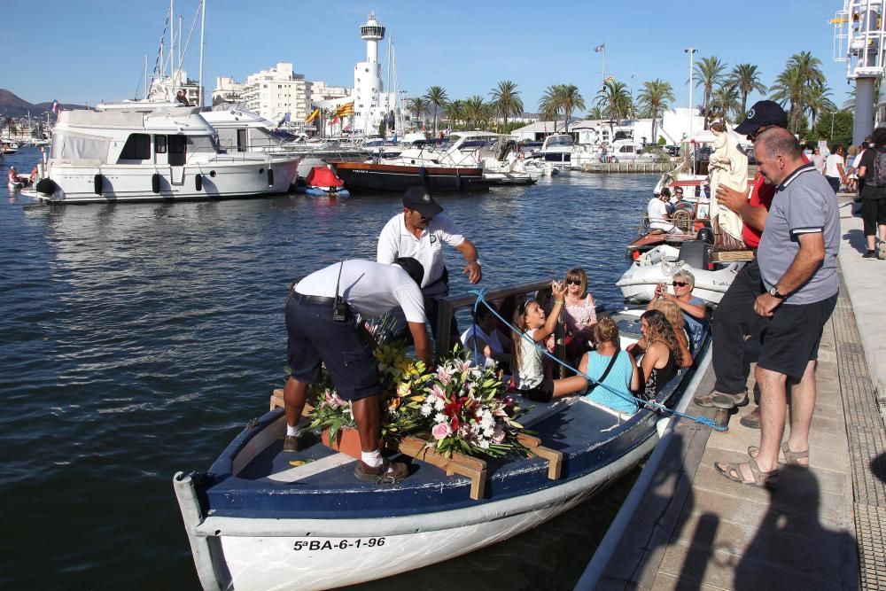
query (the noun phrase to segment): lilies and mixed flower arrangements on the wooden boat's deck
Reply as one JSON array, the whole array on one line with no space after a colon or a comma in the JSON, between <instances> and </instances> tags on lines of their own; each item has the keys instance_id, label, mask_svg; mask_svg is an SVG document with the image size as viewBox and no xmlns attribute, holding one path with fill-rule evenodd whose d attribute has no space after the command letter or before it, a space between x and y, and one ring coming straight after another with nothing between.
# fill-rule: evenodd
<instances>
[{"instance_id":1,"label":"lilies and mixed flower arrangements on the wooden boat's deck","mask_svg":"<svg viewBox=\"0 0 886 591\"><path fill-rule=\"evenodd\" d=\"M467 352L456 345L439 360L436 371L429 372L424 362L408 356L405 344L386 342L380 336L385 334L374 332L373 350L383 393L383 438L419 435L447 456L525 453L517 440L523 431L517 418L526 411L505 395L494 369L471 365ZM309 429L329 430L330 440L335 440L339 430L356 426L350 403L338 397L326 369L311 394Z\"/></svg>"}]
</instances>

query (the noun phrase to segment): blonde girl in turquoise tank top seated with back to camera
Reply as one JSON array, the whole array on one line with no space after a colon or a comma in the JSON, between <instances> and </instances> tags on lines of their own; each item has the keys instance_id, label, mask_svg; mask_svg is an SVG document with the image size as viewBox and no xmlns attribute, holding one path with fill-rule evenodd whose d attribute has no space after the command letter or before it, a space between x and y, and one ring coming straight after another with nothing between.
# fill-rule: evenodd
<instances>
[{"instance_id":1,"label":"blonde girl in turquoise tank top seated with back to camera","mask_svg":"<svg viewBox=\"0 0 886 591\"><path fill-rule=\"evenodd\" d=\"M631 354L621 350L618 324L610 316L602 316L594 336L597 348L582 357L579 369L600 385L592 382L585 396L620 413L633 415L637 412L633 393L640 389L640 375Z\"/></svg>"}]
</instances>

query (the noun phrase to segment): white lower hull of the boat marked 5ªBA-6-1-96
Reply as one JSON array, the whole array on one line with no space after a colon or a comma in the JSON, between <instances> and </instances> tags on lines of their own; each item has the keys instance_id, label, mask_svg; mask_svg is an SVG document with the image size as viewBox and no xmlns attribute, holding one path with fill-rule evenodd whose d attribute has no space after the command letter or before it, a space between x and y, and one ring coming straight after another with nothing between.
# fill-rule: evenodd
<instances>
[{"instance_id":1,"label":"white lower hull of the boat marked 5\u00aaBA-6-1-96","mask_svg":"<svg viewBox=\"0 0 886 591\"><path fill-rule=\"evenodd\" d=\"M390 577L462 556L538 527L624 476L649 455L657 440L657 434L650 432L648 439L618 461L562 486L522 499L489 503L482 509L448 511L437 516L439 521L468 525L442 527L429 523L431 520L423 519L424 516L416 516L406 518L411 531L403 532L407 524L399 522L402 517L326 520L323 524L307 519L263 524L253 519L209 517L202 524L190 524L191 547L203 546L207 558L222 556L227 582L238 591L325 589ZM190 477L182 476L180 481L177 478L179 503L196 502L188 498ZM482 514L478 514L478 509ZM418 531L423 528L428 529ZM320 535L315 534L318 529ZM256 534L251 535L252 531ZM197 562L200 555L194 552L194 556ZM219 566L217 562L198 564L198 572L213 572L217 576ZM222 586L226 583L219 582ZM213 588L214 583L207 587L204 582L204 587Z\"/></svg>"}]
</instances>

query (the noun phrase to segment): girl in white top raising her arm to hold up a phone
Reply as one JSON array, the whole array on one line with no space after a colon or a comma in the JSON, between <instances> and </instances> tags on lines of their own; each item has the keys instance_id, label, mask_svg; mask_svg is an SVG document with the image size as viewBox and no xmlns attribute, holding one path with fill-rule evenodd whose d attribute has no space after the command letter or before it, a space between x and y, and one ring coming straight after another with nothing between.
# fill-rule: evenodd
<instances>
[{"instance_id":1,"label":"girl in white top raising her arm to hold up a phone","mask_svg":"<svg viewBox=\"0 0 886 591\"><path fill-rule=\"evenodd\" d=\"M577 393L587 388L581 376L551 379L545 376L542 354L537 346L554 333L556 319L563 307L566 288L559 281L551 282L554 307L550 315L534 299L528 299L514 310L514 379L518 393L530 400L548 402L552 397ZM526 338L528 337L528 338Z\"/></svg>"}]
</instances>

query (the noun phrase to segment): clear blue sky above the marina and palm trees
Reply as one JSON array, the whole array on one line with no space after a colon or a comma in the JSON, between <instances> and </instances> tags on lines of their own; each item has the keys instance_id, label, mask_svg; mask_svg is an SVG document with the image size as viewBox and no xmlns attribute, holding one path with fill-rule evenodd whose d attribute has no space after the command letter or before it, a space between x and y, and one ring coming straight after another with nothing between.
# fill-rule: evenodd
<instances>
[{"instance_id":1,"label":"clear blue sky above the marina and palm trees","mask_svg":"<svg viewBox=\"0 0 886 591\"><path fill-rule=\"evenodd\" d=\"M167 0L4 0L4 53L0 87L32 103L95 105L134 97L144 54L152 67ZM185 36L197 0L176 0ZM828 77L832 100L842 105L851 87L845 64L832 56L828 19L839 0L752 0L711 3L516 0L208 0L204 76L207 92L216 76L247 74L291 62L308 80L350 86L365 58L358 27L370 11L393 35L400 89L409 96L431 85L450 98L486 96L502 80L517 83L527 111L535 111L551 84L579 87L586 104L600 86L606 43L607 72L634 94L642 82L671 82L676 105L688 102L689 45L696 57L717 56L731 67L756 64L770 85L785 61L812 51ZM379 58L385 56L380 47ZM198 74L198 30L185 60ZM700 104L700 90L693 102ZM758 97L753 97L754 99Z\"/></svg>"}]
</instances>

